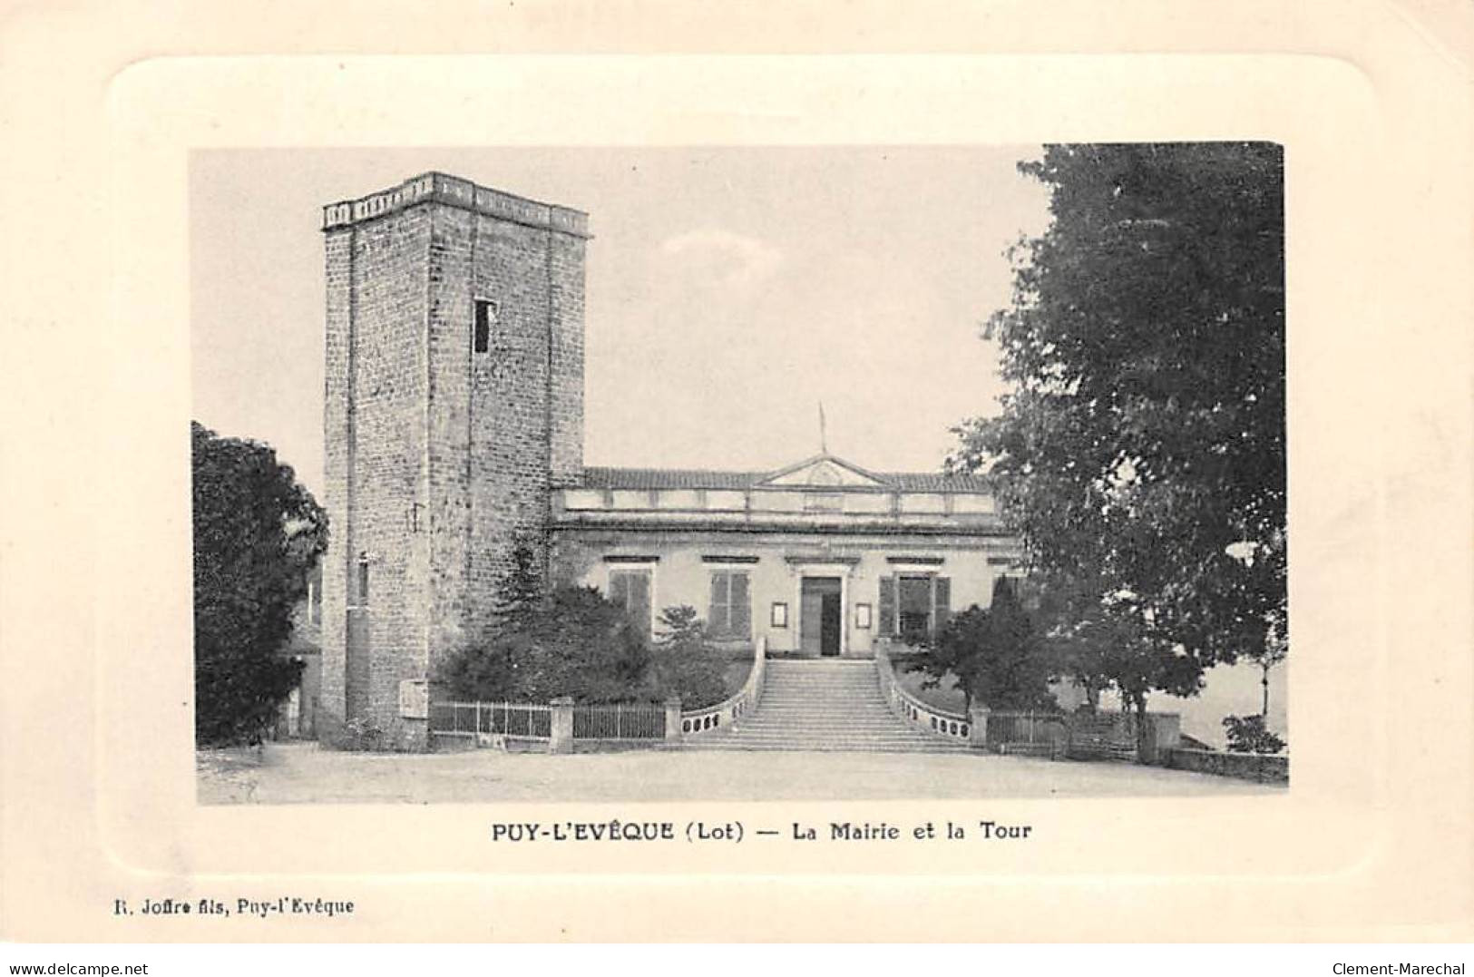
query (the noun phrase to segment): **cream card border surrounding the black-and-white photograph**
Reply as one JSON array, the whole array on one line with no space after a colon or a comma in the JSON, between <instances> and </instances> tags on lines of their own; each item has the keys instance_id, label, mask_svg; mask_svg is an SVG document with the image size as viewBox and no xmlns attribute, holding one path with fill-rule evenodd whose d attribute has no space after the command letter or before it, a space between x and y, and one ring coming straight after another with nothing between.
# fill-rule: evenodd
<instances>
[{"instance_id":1,"label":"cream card border surrounding the black-and-white photograph","mask_svg":"<svg viewBox=\"0 0 1474 977\"><path fill-rule=\"evenodd\" d=\"M16 379L16 407L7 408L16 423L6 452L15 494L4 517L9 634L0 693L4 933L106 940L1468 934L1470 296L1458 283L1471 248L1468 221L1450 218L1471 212L1467 180L1456 175L1467 177L1471 161L1468 102L1445 84L1467 74L1428 38L1427 18L1391 7L1306 4L1293 16L1275 4L1232 15L1204 4L1192 7L1201 21L1188 24L1172 13L1182 6L1129 3L1110 16L1057 6L1041 19L937 7L939 24L955 29L932 37L952 38L951 47L976 37L977 55L792 57L234 57L231 47L261 50L261 35L242 22L202 22L149 50L119 40L137 31L118 27L113 13L83 18L100 32L71 35L85 69L59 84L74 87L40 99L50 106L44 112L10 100L4 122L7 141L34 140L6 186L6 203L34 218L18 225L32 236L4 242L21 286L10 332L44 364ZM436 24L423 15L394 27L404 38L441 37L450 7L436 13ZM895 10L799 6L774 28L774 44L805 44L811 25L840 34L830 50L858 50L864 40L834 27L846 15L858 25L899 19ZM649 50L629 22L590 16L607 31L595 37L615 38L609 46L622 38L625 49ZM733 19L741 47L756 28ZM548 32L538 34L532 21L511 21L510 44L547 47ZM268 35L267 47L307 44L280 19L270 22L282 34ZM0 40L16 53L3 77L43 84L40 69L59 56L53 31L69 24L63 13L0 22ZM109 25L116 35L106 34ZM684 50L712 47L712 27ZM223 37L230 28L256 43L233 46ZM323 16L302 29L321 46L339 38L355 47L367 27L345 6L342 22ZM467 29L475 34L476 25ZM918 31L908 21L892 49L914 49ZM1113 49L1138 53L1098 53ZM677 40L668 50L682 47ZM195 803L189 713L180 709L192 681L183 436L192 149L1198 139L1287 147L1294 634L1287 793L517 805L514 812ZM44 561L28 563L38 557ZM996 816L1038 825L1038 841L1007 850L491 846L488 825L513 813L678 822ZM217 893L321 894L352 899L357 911L326 924L268 921L249 931L233 921L109 914L113 897Z\"/></svg>"}]
</instances>

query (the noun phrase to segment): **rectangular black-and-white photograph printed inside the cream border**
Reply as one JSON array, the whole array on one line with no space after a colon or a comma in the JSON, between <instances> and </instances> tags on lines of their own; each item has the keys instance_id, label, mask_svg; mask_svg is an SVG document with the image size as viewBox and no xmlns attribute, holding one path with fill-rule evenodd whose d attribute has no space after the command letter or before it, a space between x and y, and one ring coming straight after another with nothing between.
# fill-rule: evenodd
<instances>
[{"instance_id":1,"label":"rectangular black-and-white photograph printed inside the cream border","mask_svg":"<svg viewBox=\"0 0 1474 977\"><path fill-rule=\"evenodd\" d=\"M190 159L202 803L1288 781L1274 143Z\"/></svg>"}]
</instances>

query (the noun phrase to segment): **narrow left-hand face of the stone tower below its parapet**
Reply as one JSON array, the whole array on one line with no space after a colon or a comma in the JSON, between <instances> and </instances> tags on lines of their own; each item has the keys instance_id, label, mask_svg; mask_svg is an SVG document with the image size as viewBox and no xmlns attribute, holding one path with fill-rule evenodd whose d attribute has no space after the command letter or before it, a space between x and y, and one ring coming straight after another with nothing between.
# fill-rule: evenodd
<instances>
[{"instance_id":1,"label":"narrow left-hand face of the stone tower below its parapet","mask_svg":"<svg viewBox=\"0 0 1474 977\"><path fill-rule=\"evenodd\" d=\"M407 747L420 746L423 732L399 722L399 681L425 676L430 594L416 532L429 245L423 208L333 231L327 242L323 701L335 718L358 719L382 743ZM345 258L346 286L335 281ZM360 594L364 558L367 600Z\"/></svg>"}]
</instances>

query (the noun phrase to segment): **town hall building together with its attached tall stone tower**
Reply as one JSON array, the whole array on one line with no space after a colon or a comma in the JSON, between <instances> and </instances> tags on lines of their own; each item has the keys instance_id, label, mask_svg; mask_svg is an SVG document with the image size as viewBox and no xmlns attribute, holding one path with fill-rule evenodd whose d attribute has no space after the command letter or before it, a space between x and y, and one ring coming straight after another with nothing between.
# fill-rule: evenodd
<instances>
[{"instance_id":1,"label":"town hall building together with its attached tall stone tower","mask_svg":"<svg viewBox=\"0 0 1474 977\"><path fill-rule=\"evenodd\" d=\"M323 236L324 732L425 749L436 666L519 545L647 632L688 604L769 656L870 657L1017 572L970 476L585 467L582 211L427 172L327 205Z\"/></svg>"}]
</instances>

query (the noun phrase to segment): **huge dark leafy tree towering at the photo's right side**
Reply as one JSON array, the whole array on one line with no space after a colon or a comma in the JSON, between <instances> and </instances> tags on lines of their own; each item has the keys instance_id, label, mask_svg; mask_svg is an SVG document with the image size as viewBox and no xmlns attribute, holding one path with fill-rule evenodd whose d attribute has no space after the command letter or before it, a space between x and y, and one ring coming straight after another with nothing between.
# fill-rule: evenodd
<instances>
[{"instance_id":1,"label":"huge dark leafy tree towering at the photo's right side","mask_svg":"<svg viewBox=\"0 0 1474 977\"><path fill-rule=\"evenodd\" d=\"M1014 391L951 466L989 473L1032 567L1075 591L1055 634L1141 709L1285 635L1282 162L1181 143L1020 165L1052 221L985 330Z\"/></svg>"}]
</instances>

